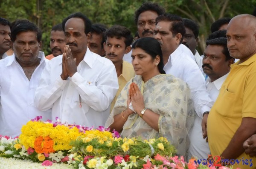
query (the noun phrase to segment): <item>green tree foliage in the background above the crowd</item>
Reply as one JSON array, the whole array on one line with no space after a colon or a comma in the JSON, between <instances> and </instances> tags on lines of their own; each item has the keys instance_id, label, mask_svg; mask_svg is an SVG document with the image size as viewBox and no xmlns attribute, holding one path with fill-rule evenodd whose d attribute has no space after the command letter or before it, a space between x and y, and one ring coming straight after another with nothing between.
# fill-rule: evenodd
<instances>
[{"instance_id":1,"label":"green tree foliage in the background above the crowd","mask_svg":"<svg viewBox=\"0 0 256 169\"><path fill-rule=\"evenodd\" d=\"M200 26L199 51L205 48L210 25L221 17L252 14L256 0L151 0L162 5L167 12L195 20ZM115 24L137 31L134 11L144 0L0 0L0 17L11 22L28 19L43 32L42 51L50 54L49 36L52 26L61 23L69 14L80 11L93 23L107 26Z\"/></svg>"}]
</instances>

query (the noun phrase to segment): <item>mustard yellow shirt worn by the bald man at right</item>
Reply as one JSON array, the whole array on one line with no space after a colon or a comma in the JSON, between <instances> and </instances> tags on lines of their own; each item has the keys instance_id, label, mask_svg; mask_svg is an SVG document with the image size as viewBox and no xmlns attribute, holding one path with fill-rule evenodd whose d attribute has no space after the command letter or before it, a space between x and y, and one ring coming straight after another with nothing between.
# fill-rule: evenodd
<instances>
[{"instance_id":1,"label":"mustard yellow shirt worn by the bald man at right","mask_svg":"<svg viewBox=\"0 0 256 169\"><path fill-rule=\"evenodd\" d=\"M241 64L231 65L230 74L221 86L220 93L208 117L207 132L212 156L221 155L239 128L243 117L256 118L256 54ZM256 126L251 126L256 127ZM241 169L256 168L256 158L245 153L238 158ZM248 164L243 160L248 160ZM250 160L253 166L250 167Z\"/></svg>"}]
</instances>

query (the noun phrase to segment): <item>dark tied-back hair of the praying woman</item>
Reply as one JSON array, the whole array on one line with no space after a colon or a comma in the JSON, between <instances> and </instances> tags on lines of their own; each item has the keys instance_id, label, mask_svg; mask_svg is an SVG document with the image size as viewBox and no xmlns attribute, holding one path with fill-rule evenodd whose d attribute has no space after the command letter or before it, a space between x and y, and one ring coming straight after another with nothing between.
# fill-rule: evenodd
<instances>
[{"instance_id":1,"label":"dark tied-back hair of the praying woman","mask_svg":"<svg viewBox=\"0 0 256 169\"><path fill-rule=\"evenodd\" d=\"M160 56L160 62L157 67L161 74L166 74L163 70L163 54L160 43L153 37L143 37L134 42L131 49L140 48L143 49L147 54L149 54L152 59L155 59L157 55Z\"/></svg>"}]
</instances>

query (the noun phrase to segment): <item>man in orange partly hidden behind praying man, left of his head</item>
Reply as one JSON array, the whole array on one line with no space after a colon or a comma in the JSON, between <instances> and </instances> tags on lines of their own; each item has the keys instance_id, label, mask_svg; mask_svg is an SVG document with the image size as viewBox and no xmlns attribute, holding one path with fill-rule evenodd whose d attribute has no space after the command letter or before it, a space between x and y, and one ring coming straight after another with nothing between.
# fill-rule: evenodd
<instances>
[{"instance_id":1,"label":"man in orange partly hidden behind praying man, left of his head","mask_svg":"<svg viewBox=\"0 0 256 169\"><path fill-rule=\"evenodd\" d=\"M52 50L52 54L49 54L45 58L51 60L52 58L63 54L65 45L65 35L62 25L58 24L53 26L50 36L50 48Z\"/></svg>"}]
</instances>

